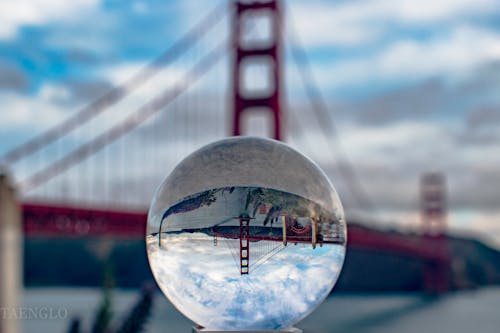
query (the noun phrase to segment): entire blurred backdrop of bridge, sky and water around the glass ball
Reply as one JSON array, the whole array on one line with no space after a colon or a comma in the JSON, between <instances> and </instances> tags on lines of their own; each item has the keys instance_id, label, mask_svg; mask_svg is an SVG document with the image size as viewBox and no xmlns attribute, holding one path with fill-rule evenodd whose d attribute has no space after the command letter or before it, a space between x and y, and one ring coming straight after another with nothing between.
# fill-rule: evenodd
<instances>
[{"instance_id":1,"label":"entire blurred backdrop of bridge, sky and water around the glass ball","mask_svg":"<svg viewBox=\"0 0 500 333\"><path fill-rule=\"evenodd\" d=\"M298 327L497 332L498 2L263 3L0 1L1 333L189 332L146 213L234 134L305 153L346 210L340 280Z\"/></svg>"}]
</instances>

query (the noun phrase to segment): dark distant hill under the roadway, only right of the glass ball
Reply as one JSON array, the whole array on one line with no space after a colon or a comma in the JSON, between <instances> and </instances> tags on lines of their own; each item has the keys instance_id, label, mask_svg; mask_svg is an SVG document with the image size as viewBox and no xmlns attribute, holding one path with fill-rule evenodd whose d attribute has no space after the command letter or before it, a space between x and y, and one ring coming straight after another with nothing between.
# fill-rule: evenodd
<instances>
[{"instance_id":1,"label":"dark distant hill under the roadway, only right of the glass ball","mask_svg":"<svg viewBox=\"0 0 500 333\"><path fill-rule=\"evenodd\" d=\"M349 228L367 227L350 225ZM395 231L371 231L405 235ZM405 237L410 240L418 236L407 234ZM475 239L450 237L448 242L453 289L500 284L500 251ZM414 257L348 247L335 289L348 292L420 291L423 289L423 265L422 260Z\"/></svg>"}]
</instances>

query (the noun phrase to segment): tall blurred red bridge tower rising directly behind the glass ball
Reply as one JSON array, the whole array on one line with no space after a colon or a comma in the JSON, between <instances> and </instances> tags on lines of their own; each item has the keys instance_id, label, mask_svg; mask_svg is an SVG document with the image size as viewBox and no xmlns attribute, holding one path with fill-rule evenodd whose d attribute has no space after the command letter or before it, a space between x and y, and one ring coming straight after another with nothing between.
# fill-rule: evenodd
<instances>
[{"instance_id":1,"label":"tall blurred red bridge tower rising directly behind the glass ball","mask_svg":"<svg viewBox=\"0 0 500 333\"><path fill-rule=\"evenodd\" d=\"M266 2L236 1L234 3L232 23L233 49L233 135L243 134L242 118L244 113L265 110L272 115L273 133L276 140L282 138L280 80L281 80L281 13L278 0ZM259 19L265 21L259 21ZM253 21L253 22L252 22ZM268 27L265 40L247 40L250 30L257 29L256 24ZM261 25L262 26L262 25ZM267 36L266 36L267 37ZM260 65L269 74L265 80L264 91L248 91L245 82L250 77L248 69Z\"/></svg>"}]
</instances>

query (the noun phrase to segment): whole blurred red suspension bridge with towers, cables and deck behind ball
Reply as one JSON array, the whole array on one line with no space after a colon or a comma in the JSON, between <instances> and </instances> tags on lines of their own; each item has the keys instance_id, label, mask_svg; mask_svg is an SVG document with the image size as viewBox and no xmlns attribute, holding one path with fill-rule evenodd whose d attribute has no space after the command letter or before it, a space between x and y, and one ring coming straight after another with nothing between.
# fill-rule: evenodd
<instances>
[{"instance_id":1,"label":"whole blurred red suspension bridge with towers, cables and deck behind ball","mask_svg":"<svg viewBox=\"0 0 500 333\"><path fill-rule=\"evenodd\" d=\"M230 133L241 135L247 129L246 122L251 120L249 116L255 114L267 117L267 123L272 123L271 137L282 140L286 135L291 143L297 140L293 134L306 134L304 123L314 119L316 131L326 142L322 149L332 156L335 151L337 159L342 161L337 164L337 171L338 180L345 182L345 195L373 214L373 204L342 150L332 113L313 80L306 52L297 43L291 55L310 105L307 111L292 103L284 107L283 3L237 1L231 2L229 11L225 6L222 3L214 8L124 84L1 158L2 165L21 176L26 235L144 237L147 219L144 198L152 195L144 189L154 189L169 168L194 146L223 137L228 116ZM228 13L231 13L229 18ZM261 18L267 20L269 36L265 40L258 40L260 28L255 24ZM223 20L230 22L230 36L227 32L220 35ZM211 40L217 42L207 47L210 34L216 36ZM223 82L221 77L225 73L217 64L224 59L232 67L229 93L222 84L213 84ZM178 68L182 68L180 75L173 75ZM252 82L256 81L252 68L264 72L264 89L252 88ZM167 84L155 83L164 72L169 76ZM155 96L133 111L122 112L120 105L148 85L154 88ZM211 90L210 96L204 92L207 89ZM285 117L290 127L285 126ZM109 119L113 122L106 127ZM145 179L149 172L155 174L152 171L155 166L160 169L157 175ZM445 291L449 288L450 257L444 230L444 180L439 175L428 175L423 178L421 188L425 223L420 238L409 241L402 236L352 226L348 246L419 258L425 263L422 272L425 288ZM116 199L122 202L116 203L119 201ZM239 233L216 232L214 237L239 238L240 243L251 241L253 236L247 235L248 223L245 223L242 222ZM283 223L284 229L289 227ZM243 234L246 236L242 240ZM283 241L283 237L279 240ZM293 237L289 240L299 241Z\"/></svg>"}]
</instances>

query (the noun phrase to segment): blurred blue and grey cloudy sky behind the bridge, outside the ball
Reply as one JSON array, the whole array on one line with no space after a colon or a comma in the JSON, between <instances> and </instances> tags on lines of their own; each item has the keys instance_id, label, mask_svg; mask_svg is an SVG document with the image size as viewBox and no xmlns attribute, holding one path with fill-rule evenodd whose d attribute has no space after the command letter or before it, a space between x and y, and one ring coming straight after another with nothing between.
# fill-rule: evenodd
<instances>
[{"instance_id":1,"label":"blurred blue and grey cloudy sky behind the bridge, outside the ball","mask_svg":"<svg viewBox=\"0 0 500 333\"><path fill-rule=\"evenodd\" d=\"M126 82L220 2L0 2L0 154ZM16 179L45 160L61 158L164 88L189 78L185 73L192 64L226 40L224 2L220 8L220 22L154 80L66 141L10 166ZM286 140L323 167L348 217L351 211L351 216L416 228L418 179L436 170L447 176L451 228L500 244L499 9L496 0L286 2ZM257 24L254 33L261 30ZM291 56L298 49L306 50L340 142L324 135L311 115ZM115 149L107 159L97 154L32 194L43 197L51 189L56 197L53 193L67 198L78 192L98 198L95 191L104 184L99 193L149 201L155 184L176 161L227 134L229 64L226 55L196 84L190 99L121 139L126 149ZM251 82L259 81L256 72ZM189 129L179 125L189 121ZM167 134L159 139L158 133ZM150 148L153 141L161 148ZM151 163L131 163L131 155ZM346 157L375 210L352 196L352 185L339 172ZM120 162L114 163L117 158ZM153 167L158 164L161 170ZM93 180L85 186L71 181L82 175Z\"/></svg>"}]
</instances>

